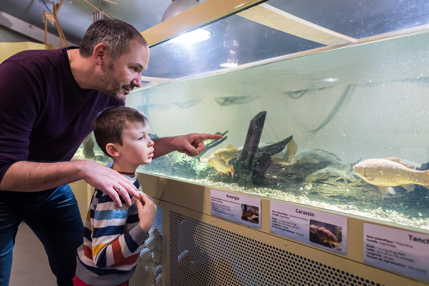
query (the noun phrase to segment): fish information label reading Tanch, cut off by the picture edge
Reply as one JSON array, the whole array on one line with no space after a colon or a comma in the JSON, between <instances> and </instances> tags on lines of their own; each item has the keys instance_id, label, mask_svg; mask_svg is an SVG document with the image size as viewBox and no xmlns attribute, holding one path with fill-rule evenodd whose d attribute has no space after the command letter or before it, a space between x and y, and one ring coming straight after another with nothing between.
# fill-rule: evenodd
<instances>
[{"instance_id":1,"label":"fish information label reading Tanch, cut off by the picture edge","mask_svg":"<svg viewBox=\"0 0 429 286\"><path fill-rule=\"evenodd\" d=\"M429 235L363 224L363 262L429 281Z\"/></svg>"}]
</instances>

